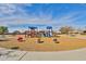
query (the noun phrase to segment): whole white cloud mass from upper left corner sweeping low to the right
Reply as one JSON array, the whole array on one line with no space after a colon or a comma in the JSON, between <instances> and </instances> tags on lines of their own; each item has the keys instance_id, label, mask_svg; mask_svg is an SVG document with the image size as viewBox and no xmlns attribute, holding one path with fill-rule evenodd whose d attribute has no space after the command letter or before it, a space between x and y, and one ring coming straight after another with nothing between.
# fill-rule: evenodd
<instances>
[{"instance_id":1,"label":"whole white cloud mass from upper left corner sweeping low to the right","mask_svg":"<svg viewBox=\"0 0 86 64\"><path fill-rule=\"evenodd\" d=\"M42 12L40 12L40 16L36 16L27 14L26 11L22 9L22 5L32 7L33 4L0 4L0 16L3 16L0 18L0 25L45 24L59 27L66 24L70 25L72 22L75 22L82 17L73 17L79 14L79 12L69 13L60 18L57 17L56 20L52 18L51 13L49 15L45 15Z\"/></svg>"}]
</instances>

